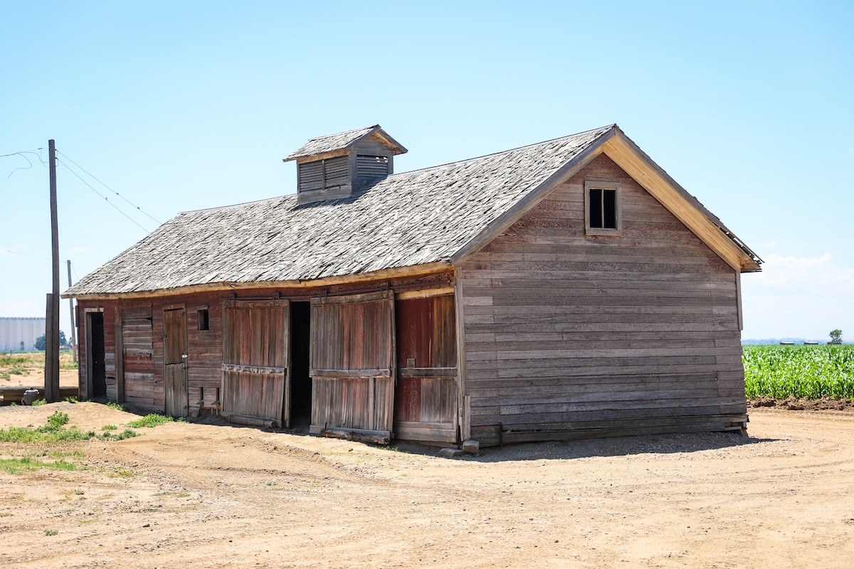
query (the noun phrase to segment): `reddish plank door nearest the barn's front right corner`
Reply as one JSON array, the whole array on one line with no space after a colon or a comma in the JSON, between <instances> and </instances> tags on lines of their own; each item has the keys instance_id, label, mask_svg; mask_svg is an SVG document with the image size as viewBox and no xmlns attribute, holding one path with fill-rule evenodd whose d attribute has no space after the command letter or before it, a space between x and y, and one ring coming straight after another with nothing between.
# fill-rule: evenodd
<instances>
[{"instance_id":1,"label":"reddish plank door nearest the barn's front right corner","mask_svg":"<svg viewBox=\"0 0 854 569\"><path fill-rule=\"evenodd\" d=\"M395 305L398 438L457 442L457 341L453 295Z\"/></svg>"}]
</instances>

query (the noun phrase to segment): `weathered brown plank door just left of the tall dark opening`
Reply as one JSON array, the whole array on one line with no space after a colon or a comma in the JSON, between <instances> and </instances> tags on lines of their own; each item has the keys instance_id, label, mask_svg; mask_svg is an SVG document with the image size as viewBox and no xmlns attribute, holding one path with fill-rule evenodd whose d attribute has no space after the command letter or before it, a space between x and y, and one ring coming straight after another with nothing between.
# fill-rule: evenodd
<instances>
[{"instance_id":1,"label":"weathered brown plank door just left of the tall dark opening","mask_svg":"<svg viewBox=\"0 0 854 569\"><path fill-rule=\"evenodd\" d=\"M287 300L226 300L222 415L290 426Z\"/></svg>"}]
</instances>

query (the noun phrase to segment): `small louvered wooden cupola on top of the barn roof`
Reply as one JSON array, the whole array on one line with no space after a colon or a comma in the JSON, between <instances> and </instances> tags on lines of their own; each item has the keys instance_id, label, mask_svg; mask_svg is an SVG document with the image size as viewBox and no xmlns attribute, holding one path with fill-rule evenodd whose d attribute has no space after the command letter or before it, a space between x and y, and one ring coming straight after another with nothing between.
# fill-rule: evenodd
<instances>
[{"instance_id":1,"label":"small louvered wooden cupola on top of the barn roof","mask_svg":"<svg viewBox=\"0 0 854 569\"><path fill-rule=\"evenodd\" d=\"M394 173L395 154L407 152L379 125L319 136L284 159L296 160L298 204L353 195Z\"/></svg>"}]
</instances>

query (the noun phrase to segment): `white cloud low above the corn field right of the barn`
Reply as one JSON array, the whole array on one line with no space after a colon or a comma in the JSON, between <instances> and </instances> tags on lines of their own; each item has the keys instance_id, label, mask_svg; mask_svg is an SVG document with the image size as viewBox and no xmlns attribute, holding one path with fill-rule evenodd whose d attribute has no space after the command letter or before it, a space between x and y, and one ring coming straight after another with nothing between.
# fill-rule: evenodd
<instances>
[{"instance_id":1,"label":"white cloud low above the corn field right of the barn","mask_svg":"<svg viewBox=\"0 0 854 569\"><path fill-rule=\"evenodd\" d=\"M799 258L769 255L762 272L741 276L746 339L827 340L841 328L854 337L854 268L830 253Z\"/></svg>"}]
</instances>

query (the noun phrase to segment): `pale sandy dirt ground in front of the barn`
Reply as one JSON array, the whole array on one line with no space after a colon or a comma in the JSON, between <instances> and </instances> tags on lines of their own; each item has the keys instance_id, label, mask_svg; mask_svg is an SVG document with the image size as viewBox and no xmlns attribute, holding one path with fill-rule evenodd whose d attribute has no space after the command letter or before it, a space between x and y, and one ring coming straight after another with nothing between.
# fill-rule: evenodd
<instances>
[{"instance_id":1,"label":"pale sandy dirt ground in front of the barn","mask_svg":"<svg viewBox=\"0 0 854 569\"><path fill-rule=\"evenodd\" d=\"M95 403L0 408L0 427ZM0 444L85 470L0 472L3 567L850 567L854 414L751 409L750 437L488 448L169 423L123 441ZM50 535L54 534L54 535Z\"/></svg>"}]
</instances>

